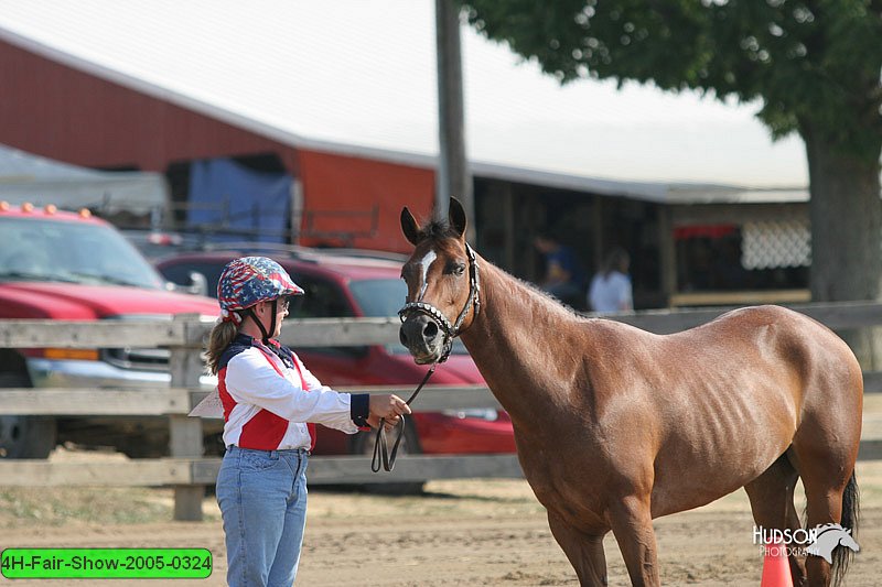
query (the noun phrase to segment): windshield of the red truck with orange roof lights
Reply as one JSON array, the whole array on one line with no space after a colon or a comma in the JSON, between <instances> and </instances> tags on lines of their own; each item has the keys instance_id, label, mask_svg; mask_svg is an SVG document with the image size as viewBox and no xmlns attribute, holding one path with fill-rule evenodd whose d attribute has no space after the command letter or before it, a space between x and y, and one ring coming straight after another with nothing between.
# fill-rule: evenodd
<instances>
[{"instance_id":1,"label":"windshield of the red truck with orange roof lights","mask_svg":"<svg viewBox=\"0 0 882 587\"><path fill-rule=\"evenodd\" d=\"M0 218L0 281L163 286L116 229L36 218Z\"/></svg>"}]
</instances>

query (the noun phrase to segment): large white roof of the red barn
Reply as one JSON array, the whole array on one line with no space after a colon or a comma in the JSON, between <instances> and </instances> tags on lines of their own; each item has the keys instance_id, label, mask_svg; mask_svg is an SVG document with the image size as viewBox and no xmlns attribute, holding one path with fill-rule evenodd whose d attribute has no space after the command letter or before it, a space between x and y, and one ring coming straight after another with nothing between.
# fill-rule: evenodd
<instances>
[{"instance_id":1,"label":"large white roof of the red barn","mask_svg":"<svg viewBox=\"0 0 882 587\"><path fill-rule=\"evenodd\" d=\"M0 39L294 146L433 166L431 0L7 0ZM805 200L757 105L559 86L462 28L474 173L658 202ZM783 189L782 189L783 188Z\"/></svg>"}]
</instances>

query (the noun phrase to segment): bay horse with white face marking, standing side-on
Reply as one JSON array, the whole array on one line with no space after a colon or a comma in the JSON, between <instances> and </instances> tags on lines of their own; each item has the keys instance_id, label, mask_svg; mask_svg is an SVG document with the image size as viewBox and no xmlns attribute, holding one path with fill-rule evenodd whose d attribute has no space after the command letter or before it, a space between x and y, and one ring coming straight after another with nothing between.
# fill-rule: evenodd
<instances>
[{"instance_id":1,"label":"bay horse with white face marking, standing side-on","mask_svg":"<svg viewBox=\"0 0 882 587\"><path fill-rule=\"evenodd\" d=\"M461 335L581 585L606 584L611 530L632 584L659 585L653 519L741 487L763 529L802 528L798 478L807 528L856 528L863 380L831 330L779 306L664 336L579 316L482 259L465 227L455 198L426 226L402 209L400 339L429 365ZM794 583L838 580L850 552L792 557Z\"/></svg>"}]
</instances>

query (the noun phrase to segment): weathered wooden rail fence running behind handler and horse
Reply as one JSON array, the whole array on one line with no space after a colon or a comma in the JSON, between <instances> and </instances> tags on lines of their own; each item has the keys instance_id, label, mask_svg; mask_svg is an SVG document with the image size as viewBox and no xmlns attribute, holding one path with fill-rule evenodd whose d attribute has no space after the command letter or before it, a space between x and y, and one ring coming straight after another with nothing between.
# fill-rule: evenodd
<instances>
[{"instance_id":1,"label":"weathered wooden rail fence running behind handler and horse","mask_svg":"<svg viewBox=\"0 0 882 587\"><path fill-rule=\"evenodd\" d=\"M829 327L841 330L882 325L882 304L836 303L793 306ZM721 308L649 311L621 315L626 322L658 334L703 324ZM294 320L282 338L298 347L398 344L397 318ZM200 418L187 417L205 394L200 388L203 340L212 327L198 316L173 320L58 322L0 320L0 348L115 348L168 347L171 384L155 390L127 389L3 389L0 414L19 415L139 415L169 418L170 458L105 463L0 460L0 486L172 486L174 518L200 520L204 486L213 483L218 458L202 458ZM443 368L443 367L441 367ZM864 373L868 392L882 391L882 373ZM338 388L347 391L346 388ZM352 390L356 391L356 390ZM358 388L358 391L408 393L401 387ZM868 396L861 458L882 458L882 394ZM486 388L428 385L416 409L420 411L498 407ZM313 457L310 482L378 483L442 478L521 477L514 455L406 455L391 474L374 474L366 456Z\"/></svg>"}]
</instances>

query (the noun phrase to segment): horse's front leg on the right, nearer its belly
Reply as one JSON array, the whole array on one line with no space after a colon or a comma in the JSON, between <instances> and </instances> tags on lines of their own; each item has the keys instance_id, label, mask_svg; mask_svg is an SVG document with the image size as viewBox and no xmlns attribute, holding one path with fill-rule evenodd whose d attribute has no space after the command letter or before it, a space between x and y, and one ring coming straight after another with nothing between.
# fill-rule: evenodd
<instances>
[{"instance_id":1,"label":"horse's front leg on the right, nearer its belly","mask_svg":"<svg viewBox=\"0 0 882 587\"><path fill-rule=\"evenodd\" d=\"M662 585L649 496L628 496L611 504L610 523L622 558L625 559L631 584Z\"/></svg>"}]
</instances>

